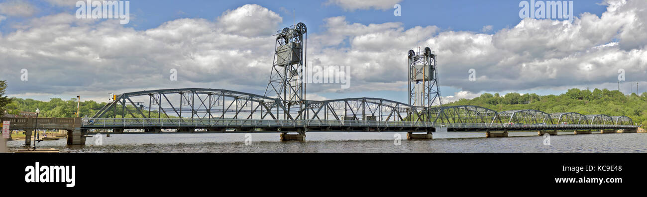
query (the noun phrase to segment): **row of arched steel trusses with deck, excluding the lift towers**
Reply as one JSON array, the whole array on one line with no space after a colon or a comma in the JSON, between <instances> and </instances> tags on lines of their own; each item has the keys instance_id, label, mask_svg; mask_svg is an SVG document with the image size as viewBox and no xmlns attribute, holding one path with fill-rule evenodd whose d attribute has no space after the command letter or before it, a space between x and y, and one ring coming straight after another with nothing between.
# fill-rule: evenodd
<instances>
[{"instance_id":1,"label":"row of arched steel trusses with deck, excluding the lift towers","mask_svg":"<svg viewBox=\"0 0 647 197\"><path fill-rule=\"evenodd\" d=\"M403 131L636 129L631 118L575 112L495 110L472 105L416 107L381 98L304 100L288 108L277 98L209 88L128 92L105 105L82 129L177 129L179 132Z\"/></svg>"}]
</instances>

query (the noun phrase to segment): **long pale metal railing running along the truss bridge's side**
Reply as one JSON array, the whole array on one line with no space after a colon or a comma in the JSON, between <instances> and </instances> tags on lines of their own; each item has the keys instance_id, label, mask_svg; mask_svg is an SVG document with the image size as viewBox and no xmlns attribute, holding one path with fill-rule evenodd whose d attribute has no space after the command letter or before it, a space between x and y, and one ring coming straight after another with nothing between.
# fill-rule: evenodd
<instances>
[{"instance_id":1,"label":"long pale metal railing running along the truss bridge's side","mask_svg":"<svg viewBox=\"0 0 647 197\"><path fill-rule=\"evenodd\" d=\"M85 118L83 127L447 127L452 129L635 129L633 125L433 123L336 119Z\"/></svg>"}]
</instances>

